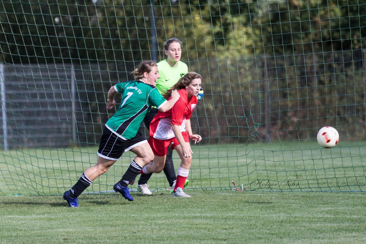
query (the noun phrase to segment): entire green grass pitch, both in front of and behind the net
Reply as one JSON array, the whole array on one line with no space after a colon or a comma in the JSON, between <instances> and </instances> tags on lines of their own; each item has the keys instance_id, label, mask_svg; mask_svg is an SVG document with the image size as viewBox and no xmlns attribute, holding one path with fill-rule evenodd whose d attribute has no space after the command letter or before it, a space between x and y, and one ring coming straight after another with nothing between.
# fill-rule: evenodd
<instances>
[{"instance_id":1,"label":"entire green grass pitch, both in front of and behind the net","mask_svg":"<svg viewBox=\"0 0 366 244\"><path fill-rule=\"evenodd\" d=\"M110 192L126 153L88 188L107 193L82 194L75 209L61 194L95 164L95 147L0 151L0 243L365 243L366 142L344 144L194 146L192 198L172 197L160 173L153 196L134 191L133 202Z\"/></svg>"}]
</instances>

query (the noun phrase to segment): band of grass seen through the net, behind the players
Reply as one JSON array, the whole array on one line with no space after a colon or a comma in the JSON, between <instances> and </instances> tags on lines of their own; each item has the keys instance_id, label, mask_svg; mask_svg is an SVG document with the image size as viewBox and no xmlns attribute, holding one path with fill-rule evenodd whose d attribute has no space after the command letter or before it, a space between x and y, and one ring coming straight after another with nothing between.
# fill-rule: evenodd
<instances>
[{"instance_id":1,"label":"band of grass seen through the net, behind the players","mask_svg":"<svg viewBox=\"0 0 366 244\"><path fill-rule=\"evenodd\" d=\"M0 195L62 194L97 161L96 147L0 151ZM343 142L320 149L316 141L194 145L189 189L230 190L231 181L247 190L366 191L366 142ZM179 159L175 157L178 168ZM89 192L107 192L126 171L126 153ZM262 183L257 184L258 180ZM287 183L288 182L288 183ZM154 191L168 188L164 173L149 181Z\"/></svg>"}]
</instances>

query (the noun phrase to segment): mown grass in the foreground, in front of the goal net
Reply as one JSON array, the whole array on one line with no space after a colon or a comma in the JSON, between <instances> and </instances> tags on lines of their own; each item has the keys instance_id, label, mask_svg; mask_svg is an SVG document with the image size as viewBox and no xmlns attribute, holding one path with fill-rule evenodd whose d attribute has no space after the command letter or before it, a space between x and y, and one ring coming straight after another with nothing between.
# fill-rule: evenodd
<instances>
[{"instance_id":1,"label":"mown grass in the foreground, in front of the goal net","mask_svg":"<svg viewBox=\"0 0 366 244\"><path fill-rule=\"evenodd\" d=\"M0 243L365 243L364 192L0 197Z\"/></svg>"}]
</instances>

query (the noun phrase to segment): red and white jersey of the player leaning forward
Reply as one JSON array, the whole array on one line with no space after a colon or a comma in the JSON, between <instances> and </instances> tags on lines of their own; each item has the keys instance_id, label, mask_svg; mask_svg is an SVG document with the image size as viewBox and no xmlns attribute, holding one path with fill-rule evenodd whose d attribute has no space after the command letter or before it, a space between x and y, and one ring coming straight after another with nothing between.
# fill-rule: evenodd
<instances>
[{"instance_id":1,"label":"red and white jersey of the player leaning forward","mask_svg":"<svg viewBox=\"0 0 366 244\"><path fill-rule=\"evenodd\" d=\"M190 119L197 105L197 97L188 98L186 89L178 91L180 98L167 112L158 112L150 123L153 138L166 140L175 137L172 124L179 125L180 131L186 131L186 119ZM170 100L170 98L168 99Z\"/></svg>"}]
</instances>

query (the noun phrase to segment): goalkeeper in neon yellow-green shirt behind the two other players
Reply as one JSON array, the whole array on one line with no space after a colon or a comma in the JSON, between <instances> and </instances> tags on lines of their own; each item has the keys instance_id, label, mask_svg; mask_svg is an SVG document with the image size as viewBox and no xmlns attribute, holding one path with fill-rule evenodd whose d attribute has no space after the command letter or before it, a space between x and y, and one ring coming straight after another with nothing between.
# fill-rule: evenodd
<instances>
[{"instance_id":1,"label":"goalkeeper in neon yellow-green shirt behind the two other players","mask_svg":"<svg viewBox=\"0 0 366 244\"><path fill-rule=\"evenodd\" d=\"M166 57L164 60L157 63L159 68L160 78L156 82L156 88L158 89L160 94L164 94L165 91L174 86L183 75L187 74L188 67L187 64L180 61L182 56L182 41L178 38L171 38L164 42L164 51L163 56ZM199 91L197 95L197 99L201 100L203 96L203 90ZM158 109L152 108L150 113L146 115L143 120L145 127L149 130L150 122L157 114ZM172 159L173 151L170 147L168 147L167 158L165 160L164 173L167 176L167 180L170 185L171 193L173 193L173 189L175 188L176 183L176 175L175 169L173 165ZM138 184L137 189L142 192L142 195L151 195L152 192L149 190L149 185L147 185L147 181L150 179L152 173L150 174L142 174ZM189 183L188 180L185 181L184 187Z\"/></svg>"}]
</instances>

